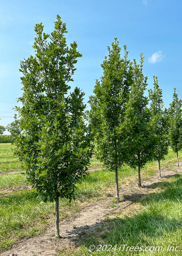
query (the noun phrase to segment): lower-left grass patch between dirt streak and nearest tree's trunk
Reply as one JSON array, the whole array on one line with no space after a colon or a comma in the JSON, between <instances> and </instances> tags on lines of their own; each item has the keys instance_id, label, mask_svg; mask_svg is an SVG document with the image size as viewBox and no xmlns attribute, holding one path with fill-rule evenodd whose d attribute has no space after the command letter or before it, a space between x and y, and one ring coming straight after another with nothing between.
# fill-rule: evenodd
<instances>
[{"instance_id":1,"label":"lower-left grass patch between dirt streak and nearest tree's trunk","mask_svg":"<svg viewBox=\"0 0 182 256\"><path fill-rule=\"evenodd\" d=\"M0 197L0 248L9 248L23 237L39 234L48 223L46 216L52 212L54 205L43 203L37 192L15 191L11 195ZM39 225L35 225L39 222Z\"/></svg>"}]
</instances>

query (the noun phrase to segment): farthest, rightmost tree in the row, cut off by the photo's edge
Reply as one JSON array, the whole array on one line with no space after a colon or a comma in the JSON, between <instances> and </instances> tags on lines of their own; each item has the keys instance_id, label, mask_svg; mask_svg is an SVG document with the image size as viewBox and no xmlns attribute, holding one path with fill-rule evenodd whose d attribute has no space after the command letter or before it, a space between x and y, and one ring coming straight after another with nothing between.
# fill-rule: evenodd
<instances>
[{"instance_id":1,"label":"farthest, rightmost tree in the row, cut off by the photo's edge","mask_svg":"<svg viewBox=\"0 0 182 256\"><path fill-rule=\"evenodd\" d=\"M172 150L177 154L182 148L182 100L178 98L176 88L174 88L173 101L170 103L169 116L170 116L170 140Z\"/></svg>"}]
</instances>

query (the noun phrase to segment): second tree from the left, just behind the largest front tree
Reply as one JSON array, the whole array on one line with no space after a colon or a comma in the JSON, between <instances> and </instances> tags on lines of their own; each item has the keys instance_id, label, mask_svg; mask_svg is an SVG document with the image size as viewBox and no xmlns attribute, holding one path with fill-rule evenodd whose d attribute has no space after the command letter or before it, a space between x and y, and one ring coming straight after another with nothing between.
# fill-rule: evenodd
<instances>
[{"instance_id":1,"label":"second tree from the left, just behind the largest front tree","mask_svg":"<svg viewBox=\"0 0 182 256\"><path fill-rule=\"evenodd\" d=\"M101 67L103 75L96 80L94 96L90 97L90 123L95 129L96 157L104 166L115 171L116 201L119 202L118 167L128 157L127 123L125 105L131 86L132 69L127 59L124 45L124 58L120 57L121 48L115 38L112 48L108 46L108 57Z\"/></svg>"}]
</instances>

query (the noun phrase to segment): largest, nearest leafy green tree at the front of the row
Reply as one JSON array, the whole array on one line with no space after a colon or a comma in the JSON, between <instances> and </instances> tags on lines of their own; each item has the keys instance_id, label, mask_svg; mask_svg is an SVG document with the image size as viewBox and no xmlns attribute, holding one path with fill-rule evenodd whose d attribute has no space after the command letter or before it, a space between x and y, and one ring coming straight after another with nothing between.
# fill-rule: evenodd
<instances>
[{"instance_id":1,"label":"largest, nearest leafy green tree at the front of the row","mask_svg":"<svg viewBox=\"0 0 182 256\"><path fill-rule=\"evenodd\" d=\"M55 201L56 237L59 237L59 198L74 199L76 182L86 176L92 155L85 124L84 93L76 87L68 95L74 65L82 55L76 42L66 44L66 23L57 15L55 29L43 33L35 25L35 57L20 63L23 95L19 98L19 136L16 154L24 161L29 182L44 202Z\"/></svg>"}]
</instances>

